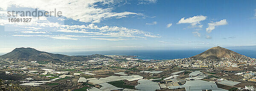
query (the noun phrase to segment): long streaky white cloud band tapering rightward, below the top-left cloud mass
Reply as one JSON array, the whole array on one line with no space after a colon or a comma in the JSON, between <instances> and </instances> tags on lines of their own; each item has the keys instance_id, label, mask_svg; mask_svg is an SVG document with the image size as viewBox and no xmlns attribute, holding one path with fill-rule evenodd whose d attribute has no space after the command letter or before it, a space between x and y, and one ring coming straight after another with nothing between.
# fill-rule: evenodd
<instances>
[{"instance_id":1,"label":"long streaky white cloud band tapering rightward, below the top-left cloud mass","mask_svg":"<svg viewBox=\"0 0 256 91\"><path fill-rule=\"evenodd\" d=\"M153 35L152 33L149 33L149 32L140 31L137 29L125 28L125 27L117 27L117 26L98 27L94 23L90 23L89 25L64 25L62 23L50 22L47 19L45 20L43 17L41 17L39 20L37 19L37 17L27 17L27 18L32 18L32 21L29 23L10 23L8 22L7 17L1 17L0 21L4 23L4 25L20 27L21 28L20 30L25 30L25 31L21 31L20 33L51 34L51 32L68 32L68 33L84 33L84 34L89 34L93 36L95 35L102 35L105 37L111 36L111 37L118 37L118 38L119 37L137 37L137 38L158 37L157 35ZM44 28L47 28L50 31L45 32ZM90 29L94 29L94 31L88 31ZM26 31L26 30L29 30L29 31Z\"/></svg>"}]
</instances>

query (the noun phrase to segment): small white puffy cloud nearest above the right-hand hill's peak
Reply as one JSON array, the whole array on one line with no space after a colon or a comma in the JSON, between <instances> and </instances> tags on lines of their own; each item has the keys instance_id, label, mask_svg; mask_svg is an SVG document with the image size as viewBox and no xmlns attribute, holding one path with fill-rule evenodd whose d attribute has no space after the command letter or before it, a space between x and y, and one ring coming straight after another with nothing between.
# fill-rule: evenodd
<instances>
[{"instance_id":1,"label":"small white puffy cloud nearest above the right-hand hill's peak","mask_svg":"<svg viewBox=\"0 0 256 91\"><path fill-rule=\"evenodd\" d=\"M223 19L221 21L218 22L214 22L214 23L208 23L209 27L206 28L206 31L208 33L212 32L213 29L215 29L215 26L221 26L221 25L227 25L227 20Z\"/></svg>"}]
</instances>

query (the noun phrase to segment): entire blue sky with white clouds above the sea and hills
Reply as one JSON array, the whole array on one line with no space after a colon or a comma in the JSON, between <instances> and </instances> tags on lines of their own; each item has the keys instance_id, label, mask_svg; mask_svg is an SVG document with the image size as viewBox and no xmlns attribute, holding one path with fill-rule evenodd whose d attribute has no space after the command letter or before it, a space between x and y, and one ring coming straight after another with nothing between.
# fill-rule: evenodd
<instances>
[{"instance_id":1,"label":"entire blue sky with white clouds above the sea and hills","mask_svg":"<svg viewBox=\"0 0 256 91\"><path fill-rule=\"evenodd\" d=\"M0 4L0 52L190 49L256 45L255 0L27 0ZM28 3L29 2L29 3ZM57 11L10 23L7 11ZM21 17L18 18L28 18Z\"/></svg>"}]
</instances>

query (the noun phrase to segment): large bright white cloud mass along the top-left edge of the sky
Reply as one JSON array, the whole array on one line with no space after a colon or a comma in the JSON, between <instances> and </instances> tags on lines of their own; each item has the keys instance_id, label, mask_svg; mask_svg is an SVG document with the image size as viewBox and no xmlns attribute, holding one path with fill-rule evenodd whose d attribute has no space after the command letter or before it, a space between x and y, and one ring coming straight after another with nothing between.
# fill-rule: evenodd
<instances>
[{"instance_id":1,"label":"large bright white cloud mass along the top-left edge of the sky","mask_svg":"<svg viewBox=\"0 0 256 91\"><path fill-rule=\"evenodd\" d=\"M113 7L99 8L96 3L111 5L113 0L0 0L0 9L7 10L11 6L27 7L45 11L61 11L62 15L81 22L99 23L101 20L110 17L127 17L127 15L141 15L134 12L112 12ZM29 2L29 3L28 3ZM33 4L31 4L33 3Z\"/></svg>"}]
</instances>

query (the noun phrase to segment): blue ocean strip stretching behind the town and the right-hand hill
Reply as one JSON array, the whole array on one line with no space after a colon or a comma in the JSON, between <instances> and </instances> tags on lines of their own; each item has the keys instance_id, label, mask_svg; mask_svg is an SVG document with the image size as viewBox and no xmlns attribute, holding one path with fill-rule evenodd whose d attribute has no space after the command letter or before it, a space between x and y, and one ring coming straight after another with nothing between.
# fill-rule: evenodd
<instances>
[{"instance_id":1,"label":"blue ocean strip stretching behind the town and the right-hand hill","mask_svg":"<svg viewBox=\"0 0 256 91\"><path fill-rule=\"evenodd\" d=\"M143 60L168 60L177 58L187 58L200 54L206 49L187 49L187 50L112 50L112 51L79 51L79 52L54 52L67 55L135 55L137 58ZM256 58L256 51L254 50L232 50L247 57Z\"/></svg>"}]
</instances>

